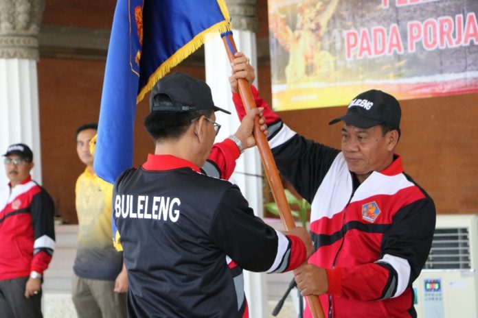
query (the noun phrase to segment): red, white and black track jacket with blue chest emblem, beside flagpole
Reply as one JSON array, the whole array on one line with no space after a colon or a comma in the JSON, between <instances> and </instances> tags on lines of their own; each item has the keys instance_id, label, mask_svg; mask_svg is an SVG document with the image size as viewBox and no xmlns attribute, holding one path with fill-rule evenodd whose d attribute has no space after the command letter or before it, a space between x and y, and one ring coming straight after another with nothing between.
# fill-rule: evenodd
<instances>
[{"instance_id":1,"label":"red, white and black track jacket with blue chest emblem, beside flagpole","mask_svg":"<svg viewBox=\"0 0 478 318\"><path fill-rule=\"evenodd\" d=\"M269 108L253 93L258 107ZM238 96L234 102L240 107ZM359 184L338 149L306 140L280 120L268 130L277 167L312 205L316 252L309 263L327 269L324 311L329 317L416 317L411 284L430 251L435 205L403 172L400 156Z\"/></svg>"}]
</instances>

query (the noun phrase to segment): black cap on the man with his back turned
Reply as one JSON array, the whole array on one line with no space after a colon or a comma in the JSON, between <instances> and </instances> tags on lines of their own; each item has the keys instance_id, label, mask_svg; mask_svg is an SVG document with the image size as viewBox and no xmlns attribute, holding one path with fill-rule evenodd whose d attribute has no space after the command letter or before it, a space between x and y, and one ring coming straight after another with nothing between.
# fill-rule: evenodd
<instances>
[{"instance_id":1,"label":"black cap on the man with his back turned","mask_svg":"<svg viewBox=\"0 0 478 318\"><path fill-rule=\"evenodd\" d=\"M161 102L161 95L167 95L172 103ZM152 88L150 96L150 112L172 111L172 112L193 112L195 110L220 110L231 114L223 108L214 106L211 88L209 86L185 73L173 73L165 76Z\"/></svg>"}]
</instances>

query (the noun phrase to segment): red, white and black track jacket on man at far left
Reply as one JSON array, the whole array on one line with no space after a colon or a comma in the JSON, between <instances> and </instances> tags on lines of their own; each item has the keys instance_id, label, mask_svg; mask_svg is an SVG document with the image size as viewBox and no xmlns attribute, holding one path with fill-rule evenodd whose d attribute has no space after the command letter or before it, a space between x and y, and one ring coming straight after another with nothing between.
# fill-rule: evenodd
<instances>
[{"instance_id":1,"label":"red, white and black track jacket on man at far left","mask_svg":"<svg viewBox=\"0 0 478 318\"><path fill-rule=\"evenodd\" d=\"M54 204L29 176L0 191L0 280L43 273L55 247Z\"/></svg>"}]
</instances>

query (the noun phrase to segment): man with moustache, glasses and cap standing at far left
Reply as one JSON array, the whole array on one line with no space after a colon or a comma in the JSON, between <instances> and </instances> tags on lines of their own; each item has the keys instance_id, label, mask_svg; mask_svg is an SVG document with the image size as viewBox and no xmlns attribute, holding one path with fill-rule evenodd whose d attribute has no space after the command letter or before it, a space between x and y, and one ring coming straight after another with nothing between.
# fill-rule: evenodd
<instances>
[{"instance_id":1,"label":"man with moustache, glasses and cap standing at far left","mask_svg":"<svg viewBox=\"0 0 478 318\"><path fill-rule=\"evenodd\" d=\"M32 180L33 153L11 145L3 155L10 182L0 188L0 317L43 317L41 284L55 247L54 204Z\"/></svg>"}]
</instances>

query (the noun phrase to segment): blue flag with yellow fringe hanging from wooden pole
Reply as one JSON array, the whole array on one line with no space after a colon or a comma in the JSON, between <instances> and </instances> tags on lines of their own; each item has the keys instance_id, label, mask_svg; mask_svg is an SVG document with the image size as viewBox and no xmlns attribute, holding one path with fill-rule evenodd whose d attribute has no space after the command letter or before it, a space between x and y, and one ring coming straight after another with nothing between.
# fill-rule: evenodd
<instances>
[{"instance_id":1,"label":"blue flag with yellow fringe hanging from wooden pole","mask_svg":"<svg viewBox=\"0 0 478 318\"><path fill-rule=\"evenodd\" d=\"M225 0L117 1L93 163L102 180L113 184L133 167L137 103L207 34L229 30L229 21Z\"/></svg>"}]
</instances>

